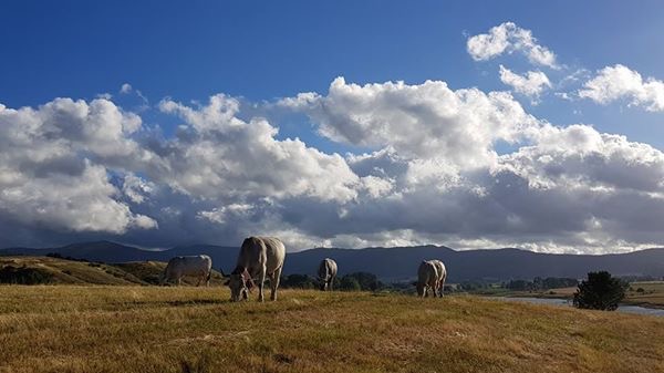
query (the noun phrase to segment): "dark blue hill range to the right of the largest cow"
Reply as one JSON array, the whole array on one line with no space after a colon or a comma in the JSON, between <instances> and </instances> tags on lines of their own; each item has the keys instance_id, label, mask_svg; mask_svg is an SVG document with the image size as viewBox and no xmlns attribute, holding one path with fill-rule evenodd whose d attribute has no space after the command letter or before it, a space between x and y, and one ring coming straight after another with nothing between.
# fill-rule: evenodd
<instances>
[{"instance_id":1,"label":"dark blue hill range to the right of the largest cow","mask_svg":"<svg viewBox=\"0 0 664 373\"><path fill-rule=\"evenodd\" d=\"M312 249L289 256L287 269L313 273L317 263L325 257L336 260L340 271L369 271L393 281L413 278L419 262L432 258L445 262L453 282L538 276L582 278L591 270L608 270L618 276L664 276L664 249L603 256L540 253L511 248L456 251L437 246Z\"/></svg>"}]
</instances>

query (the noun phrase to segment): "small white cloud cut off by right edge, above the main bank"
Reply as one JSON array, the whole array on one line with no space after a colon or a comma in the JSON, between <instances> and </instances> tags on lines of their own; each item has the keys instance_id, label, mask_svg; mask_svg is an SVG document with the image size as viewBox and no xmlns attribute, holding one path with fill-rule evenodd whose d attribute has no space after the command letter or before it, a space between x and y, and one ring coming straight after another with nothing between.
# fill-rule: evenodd
<instances>
[{"instance_id":1,"label":"small white cloud cut off by right edge, above the main bank","mask_svg":"<svg viewBox=\"0 0 664 373\"><path fill-rule=\"evenodd\" d=\"M621 64L600 70L587 81L579 96L600 104L626 100L630 105L642 106L650 112L664 111L664 82L641 74Z\"/></svg>"}]
</instances>

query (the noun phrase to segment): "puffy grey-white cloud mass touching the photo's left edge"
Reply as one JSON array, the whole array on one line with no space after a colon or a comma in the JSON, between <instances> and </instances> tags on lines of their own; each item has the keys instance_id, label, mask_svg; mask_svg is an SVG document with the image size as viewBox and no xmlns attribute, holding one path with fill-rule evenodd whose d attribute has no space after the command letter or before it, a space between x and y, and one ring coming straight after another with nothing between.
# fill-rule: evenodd
<instances>
[{"instance_id":1,"label":"puffy grey-white cloud mass touching the photo's left edge","mask_svg":"<svg viewBox=\"0 0 664 373\"><path fill-rule=\"evenodd\" d=\"M128 136L141 118L103 99L56 99L39 108L0 106L0 213L56 230L123 234L155 228L120 201L106 168L148 158Z\"/></svg>"}]
</instances>

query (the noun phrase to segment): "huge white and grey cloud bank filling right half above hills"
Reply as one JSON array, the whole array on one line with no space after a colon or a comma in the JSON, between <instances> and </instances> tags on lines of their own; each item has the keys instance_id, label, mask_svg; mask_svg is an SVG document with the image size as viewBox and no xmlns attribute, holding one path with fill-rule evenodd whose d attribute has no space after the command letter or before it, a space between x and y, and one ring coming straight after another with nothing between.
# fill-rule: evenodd
<instances>
[{"instance_id":1,"label":"huge white and grey cloud bank filling right half above hills","mask_svg":"<svg viewBox=\"0 0 664 373\"><path fill-rule=\"evenodd\" d=\"M360 198L344 206L342 215L318 206L317 218L293 218L292 225L326 237L331 246L428 240L602 252L606 247L630 250L664 238L653 224L664 208L660 151L588 125L558 127L537 121L507 96L513 110L509 114L505 105L477 110L477 100L490 102L490 93L454 100L467 94L439 82L360 86L336 80L328 95L282 100L281 105L307 112L329 138L382 147L346 160L359 176L380 177L390 185L382 198ZM461 120L457 113L463 113ZM491 128L494 137L465 137L464 131L481 133L474 123ZM447 131L436 132L437 146L429 151L417 134L437 127ZM447 149L447 136L466 143ZM518 148L478 156L495 152L496 139L511 139ZM463 160L457 160L459 154ZM299 204L286 208L289 217L303 209Z\"/></svg>"}]
</instances>

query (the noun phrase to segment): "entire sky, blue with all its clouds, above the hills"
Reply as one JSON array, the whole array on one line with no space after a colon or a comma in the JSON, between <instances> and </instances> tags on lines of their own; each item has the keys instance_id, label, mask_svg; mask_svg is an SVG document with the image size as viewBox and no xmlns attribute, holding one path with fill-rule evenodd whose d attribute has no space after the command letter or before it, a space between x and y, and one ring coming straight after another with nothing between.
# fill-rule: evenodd
<instances>
[{"instance_id":1,"label":"entire sky, blue with all its clouds, above the hills","mask_svg":"<svg viewBox=\"0 0 664 373\"><path fill-rule=\"evenodd\" d=\"M7 1L0 247L664 244L658 1Z\"/></svg>"}]
</instances>

